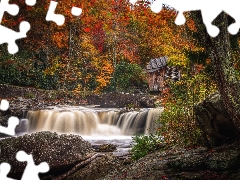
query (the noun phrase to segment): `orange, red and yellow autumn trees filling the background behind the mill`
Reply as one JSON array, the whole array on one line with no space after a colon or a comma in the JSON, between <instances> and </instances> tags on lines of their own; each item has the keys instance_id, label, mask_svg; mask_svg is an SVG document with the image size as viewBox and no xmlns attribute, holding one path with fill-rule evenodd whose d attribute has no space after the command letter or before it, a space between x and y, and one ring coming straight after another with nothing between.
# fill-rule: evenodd
<instances>
[{"instance_id":1,"label":"orange, red and yellow autumn trees filling the background behind the mill","mask_svg":"<svg viewBox=\"0 0 240 180\"><path fill-rule=\"evenodd\" d=\"M200 64L208 58L187 33L196 31L193 20L176 26L175 10L165 7L155 14L148 1L58 1L55 13L65 16L62 26L45 20L50 1L34 7L24 0L11 2L20 12L15 17L5 13L2 24L18 31L25 20L31 29L17 40L20 50L14 56L1 46L1 83L94 93L124 90L129 83L141 89L147 87L144 69L152 58L168 56L181 68L191 63L189 55L204 61ZM73 6L82 8L79 17L71 14Z\"/></svg>"}]
</instances>

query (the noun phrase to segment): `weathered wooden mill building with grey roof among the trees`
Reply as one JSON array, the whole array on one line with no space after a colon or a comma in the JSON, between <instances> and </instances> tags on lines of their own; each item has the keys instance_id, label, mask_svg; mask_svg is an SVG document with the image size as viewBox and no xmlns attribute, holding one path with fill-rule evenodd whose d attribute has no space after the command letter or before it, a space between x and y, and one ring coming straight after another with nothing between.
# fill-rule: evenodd
<instances>
[{"instance_id":1,"label":"weathered wooden mill building with grey roof among the trees","mask_svg":"<svg viewBox=\"0 0 240 180\"><path fill-rule=\"evenodd\" d=\"M180 80L180 71L167 65L167 57L151 59L147 65L148 85L150 91L162 91L165 86L165 80L170 78L173 81Z\"/></svg>"}]
</instances>

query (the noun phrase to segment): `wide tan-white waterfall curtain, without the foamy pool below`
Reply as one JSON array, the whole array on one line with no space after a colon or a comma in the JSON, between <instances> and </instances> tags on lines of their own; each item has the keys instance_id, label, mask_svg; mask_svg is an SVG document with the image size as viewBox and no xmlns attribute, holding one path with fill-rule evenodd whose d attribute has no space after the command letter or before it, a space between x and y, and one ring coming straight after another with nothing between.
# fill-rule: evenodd
<instances>
[{"instance_id":1,"label":"wide tan-white waterfall curtain, without the foamy pool below","mask_svg":"<svg viewBox=\"0 0 240 180\"><path fill-rule=\"evenodd\" d=\"M79 135L150 134L163 108L122 112L120 109L54 108L28 111L28 133L51 131Z\"/></svg>"}]
</instances>

